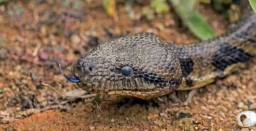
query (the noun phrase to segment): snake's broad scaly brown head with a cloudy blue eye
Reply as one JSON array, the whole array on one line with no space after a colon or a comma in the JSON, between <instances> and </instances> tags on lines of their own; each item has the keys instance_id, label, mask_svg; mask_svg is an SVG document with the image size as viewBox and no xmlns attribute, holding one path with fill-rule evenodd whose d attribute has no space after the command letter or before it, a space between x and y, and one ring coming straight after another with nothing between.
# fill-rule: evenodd
<instances>
[{"instance_id":1,"label":"snake's broad scaly brown head with a cloudy blue eye","mask_svg":"<svg viewBox=\"0 0 256 131\"><path fill-rule=\"evenodd\" d=\"M101 43L72 64L77 85L96 94L150 99L181 84L175 48L153 33L138 33Z\"/></svg>"}]
</instances>

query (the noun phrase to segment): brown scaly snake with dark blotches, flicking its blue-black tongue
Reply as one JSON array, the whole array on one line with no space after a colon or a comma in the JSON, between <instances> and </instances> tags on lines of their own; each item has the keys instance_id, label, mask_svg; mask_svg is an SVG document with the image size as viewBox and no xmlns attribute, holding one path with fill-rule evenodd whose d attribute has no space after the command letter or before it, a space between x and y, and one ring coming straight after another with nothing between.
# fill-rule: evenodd
<instances>
[{"instance_id":1,"label":"brown scaly snake with dark blotches, flicking its blue-black tongue","mask_svg":"<svg viewBox=\"0 0 256 131\"><path fill-rule=\"evenodd\" d=\"M247 4L240 19L217 37L181 44L135 33L100 43L79 57L71 65L74 77L61 73L87 92L149 100L211 84L255 54L256 14Z\"/></svg>"}]
</instances>

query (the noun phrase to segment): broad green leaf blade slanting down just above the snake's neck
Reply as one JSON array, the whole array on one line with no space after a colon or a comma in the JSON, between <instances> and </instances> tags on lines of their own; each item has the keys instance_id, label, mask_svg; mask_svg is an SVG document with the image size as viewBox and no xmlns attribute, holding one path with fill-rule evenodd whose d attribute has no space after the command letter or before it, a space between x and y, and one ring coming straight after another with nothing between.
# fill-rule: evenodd
<instances>
[{"instance_id":1,"label":"broad green leaf blade slanting down just above the snake's neck","mask_svg":"<svg viewBox=\"0 0 256 131\"><path fill-rule=\"evenodd\" d=\"M175 12L179 15L182 22L190 29L190 31L199 39L207 40L215 37L213 29L207 24L203 16L194 10L195 0L169 0Z\"/></svg>"}]
</instances>

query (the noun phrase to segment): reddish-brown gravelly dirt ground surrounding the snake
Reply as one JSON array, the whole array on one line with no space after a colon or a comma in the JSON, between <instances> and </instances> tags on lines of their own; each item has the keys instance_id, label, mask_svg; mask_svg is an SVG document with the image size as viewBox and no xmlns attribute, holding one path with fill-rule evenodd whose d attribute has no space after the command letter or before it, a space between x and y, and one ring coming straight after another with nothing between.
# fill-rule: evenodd
<instances>
[{"instance_id":1,"label":"reddish-brown gravelly dirt ground surrounding the snake","mask_svg":"<svg viewBox=\"0 0 256 131\"><path fill-rule=\"evenodd\" d=\"M68 7L60 1L0 5L0 130L256 130L236 122L241 111L256 110L255 60L234 75L196 90L187 106L188 92L176 92L181 102L167 95L153 100L106 96L95 103L94 94L64 79L56 62L71 75L72 62L110 39L102 27L114 34L154 32L168 42L198 41L183 28L173 9L146 20L140 10L146 5L133 5L131 20L124 4L117 4L119 20L114 22L100 1L82 1L80 9L71 11L65 43ZM15 13L16 6L21 14ZM217 35L228 27L223 14L208 5L200 6L200 12Z\"/></svg>"}]
</instances>

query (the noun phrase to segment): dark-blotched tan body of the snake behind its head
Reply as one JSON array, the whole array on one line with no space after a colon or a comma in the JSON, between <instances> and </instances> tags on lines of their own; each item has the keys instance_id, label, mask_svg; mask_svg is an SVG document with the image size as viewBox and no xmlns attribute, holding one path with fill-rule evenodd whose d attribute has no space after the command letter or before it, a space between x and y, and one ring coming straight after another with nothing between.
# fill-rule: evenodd
<instances>
[{"instance_id":1,"label":"dark-blotched tan body of the snake behind its head","mask_svg":"<svg viewBox=\"0 0 256 131\"><path fill-rule=\"evenodd\" d=\"M249 7L250 8L250 7ZM183 82L178 90L190 90L225 77L256 54L256 15L251 9L226 33L188 45L166 43L177 48ZM248 15L251 14L251 15Z\"/></svg>"}]
</instances>

